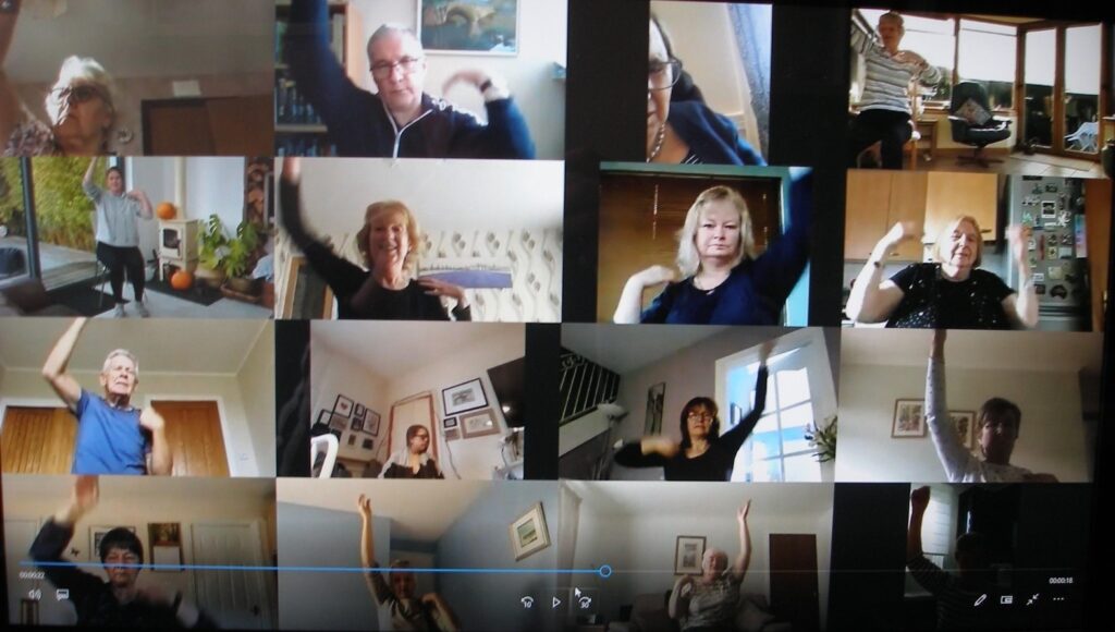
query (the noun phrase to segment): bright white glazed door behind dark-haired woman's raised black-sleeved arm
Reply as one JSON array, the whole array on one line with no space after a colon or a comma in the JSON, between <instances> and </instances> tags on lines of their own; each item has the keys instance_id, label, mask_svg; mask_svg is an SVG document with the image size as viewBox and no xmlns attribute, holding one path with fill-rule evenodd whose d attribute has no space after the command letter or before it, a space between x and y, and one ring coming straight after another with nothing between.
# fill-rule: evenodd
<instances>
[{"instance_id":1,"label":"bright white glazed door behind dark-haired woman's raised black-sleeved arm","mask_svg":"<svg viewBox=\"0 0 1115 632\"><path fill-rule=\"evenodd\" d=\"M767 362L764 414L736 454L731 480L820 482L824 473L805 434L814 420L836 413L824 334L794 332L779 338L776 351ZM754 408L757 371L758 347L717 362L717 400L728 402L728 414L721 414L725 431Z\"/></svg>"}]
</instances>

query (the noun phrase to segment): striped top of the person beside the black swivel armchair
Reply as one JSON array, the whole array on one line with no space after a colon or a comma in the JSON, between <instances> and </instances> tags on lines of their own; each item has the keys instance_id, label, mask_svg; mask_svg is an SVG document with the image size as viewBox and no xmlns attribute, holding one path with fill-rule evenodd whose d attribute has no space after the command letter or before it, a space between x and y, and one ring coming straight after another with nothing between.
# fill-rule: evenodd
<instances>
[{"instance_id":1,"label":"striped top of the person beside the black swivel armchair","mask_svg":"<svg viewBox=\"0 0 1115 632\"><path fill-rule=\"evenodd\" d=\"M941 80L941 71L935 66L928 65L922 70L918 64L899 61L874 38L855 27L852 27L852 47L863 55L867 68L860 111L889 109L911 114L910 82L917 78L918 83L931 86Z\"/></svg>"}]
</instances>

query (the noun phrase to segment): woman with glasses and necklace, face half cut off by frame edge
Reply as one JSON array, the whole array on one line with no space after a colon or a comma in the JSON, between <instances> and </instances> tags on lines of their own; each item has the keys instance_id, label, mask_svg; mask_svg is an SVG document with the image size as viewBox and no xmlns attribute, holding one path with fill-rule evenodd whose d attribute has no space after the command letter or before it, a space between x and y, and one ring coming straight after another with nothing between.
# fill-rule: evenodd
<instances>
[{"instance_id":1,"label":"woman with glasses and necklace, face half cut off by frame edge","mask_svg":"<svg viewBox=\"0 0 1115 632\"><path fill-rule=\"evenodd\" d=\"M731 121L700 100L655 17L647 64L647 162L766 164Z\"/></svg>"}]
</instances>

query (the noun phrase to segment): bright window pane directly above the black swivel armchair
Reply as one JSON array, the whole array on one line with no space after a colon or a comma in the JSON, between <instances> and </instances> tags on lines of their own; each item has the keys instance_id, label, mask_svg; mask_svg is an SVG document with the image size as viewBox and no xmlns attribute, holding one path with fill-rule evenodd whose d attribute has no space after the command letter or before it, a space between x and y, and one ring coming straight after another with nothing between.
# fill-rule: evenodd
<instances>
[{"instance_id":1,"label":"bright window pane directly above the black swivel armchair","mask_svg":"<svg viewBox=\"0 0 1115 632\"><path fill-rule=\"evenodd\" d=\"M957 75L961 82L979 82L991 107L1014 104L1018 29L976 20L960 20Z\"/></svg>"}]
</instances>

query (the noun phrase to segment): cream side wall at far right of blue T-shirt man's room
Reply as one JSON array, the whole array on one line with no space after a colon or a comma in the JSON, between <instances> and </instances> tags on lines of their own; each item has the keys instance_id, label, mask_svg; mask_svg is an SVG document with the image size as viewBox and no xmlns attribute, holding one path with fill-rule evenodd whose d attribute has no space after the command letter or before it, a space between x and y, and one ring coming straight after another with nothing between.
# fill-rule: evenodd
<instances>
[{"instance_id":1,"label":"cream side wall at far right of blue T-shirt man's room","mask_svg":"<svg viewBox=\"0 0 1115 632\"><path fill-rule=\"evenodd\" d=\"M251 420L248 434L255 454L255 476L275 476L275 341L274 323L268 322L236 374Z\"/></svg>"}]
</instances>

